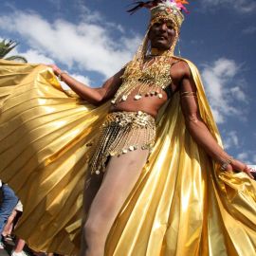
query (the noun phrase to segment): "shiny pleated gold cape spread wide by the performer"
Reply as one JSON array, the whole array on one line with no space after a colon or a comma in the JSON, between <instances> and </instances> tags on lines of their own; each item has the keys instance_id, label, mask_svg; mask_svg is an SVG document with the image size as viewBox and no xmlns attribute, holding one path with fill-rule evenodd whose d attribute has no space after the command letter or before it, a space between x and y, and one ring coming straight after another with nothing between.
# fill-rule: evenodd
<instances>
[{"instance_id":1,"label":"shiny pleated gold cape spread wide by the performer","mask_svg":"<svg viewBox=\"0 0 256 256\"><path fill-rule=\"evenodd\" d=\"M201 116L221 144L198 71L186 62ZM0 177L24 204L16 233L29 247L77 253L86 144L108 107L67 96L45 65L0 62ZM175 95L105 255L253 256L255 248L256 182L218 170L190 136Z\"/></svg>"}]
</instances>

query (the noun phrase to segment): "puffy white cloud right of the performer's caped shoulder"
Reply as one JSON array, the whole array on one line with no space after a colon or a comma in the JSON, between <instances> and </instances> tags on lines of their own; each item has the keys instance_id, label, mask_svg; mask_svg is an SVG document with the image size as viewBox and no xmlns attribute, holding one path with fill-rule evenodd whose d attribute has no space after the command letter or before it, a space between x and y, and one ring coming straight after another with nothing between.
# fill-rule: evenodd
<instances>
[{"instance_id":1,"label":"puffy white cloud right of the performer's caped shoulder","mask_svg":"<svg viewBox=\"0 0 256 256\"><path fill-rule=\"evenodd\" d=\"M233 60L226 58L220 58L203 68L202 78L206 93L218 123L225 122L225 118L229 116L245 119L245 108L238 107L241 103L247 104L246 95L240 85L245 82L237 79L239 68L240 66Z\"/></svg>"}]
</instances>

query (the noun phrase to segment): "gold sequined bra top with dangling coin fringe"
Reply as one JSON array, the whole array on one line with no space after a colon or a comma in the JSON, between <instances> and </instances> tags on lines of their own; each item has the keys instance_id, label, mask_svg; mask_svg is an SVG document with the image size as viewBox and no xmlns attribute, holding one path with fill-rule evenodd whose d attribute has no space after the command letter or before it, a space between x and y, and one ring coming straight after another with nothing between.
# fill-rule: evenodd
<instances>
[{"instance_id":1,"label":"gold sequined bra top with dangling coin fringe","mask_svg":"<svg viewBox=\"0 0 256 256\"><path fill-rule=\"evenodd\" d=\"M111 101L113 104L126 101L135 89L137 89L137 94L134 96L136 101L150 96L161 99L163 90L170 98L170 93L166 90L171 88L169 85L172 83L170 59L155 56L152 60L153 63L149 61L141 64L141 62L132 61L126 65L122 75L123 82Z\"/></svg>"}]
</instances>

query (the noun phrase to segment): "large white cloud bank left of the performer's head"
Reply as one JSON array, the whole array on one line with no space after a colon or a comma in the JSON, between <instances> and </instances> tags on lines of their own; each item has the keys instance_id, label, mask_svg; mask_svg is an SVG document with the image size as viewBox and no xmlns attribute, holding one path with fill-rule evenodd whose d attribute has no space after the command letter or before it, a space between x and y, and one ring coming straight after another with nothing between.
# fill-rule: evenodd
<instances>
[{"instance_id":1,"label":"large white cloud bank left of the performer's head","mask_svg":"<svg viewBox=\"0 0 256 256\"><path fill-rule=\"evenodd\" d=\"M111 30L94 23L100 18L97 13L90 15L90 21L83 19L79 24L62 19L50 23L36 13L15 11L0 17L0 27L18 33L33 51L44 52L69 68L79 65L83 70L109 77L132 58L140 37L126 37L117 29L117 39Z\"/></svg>"}]
</instances>

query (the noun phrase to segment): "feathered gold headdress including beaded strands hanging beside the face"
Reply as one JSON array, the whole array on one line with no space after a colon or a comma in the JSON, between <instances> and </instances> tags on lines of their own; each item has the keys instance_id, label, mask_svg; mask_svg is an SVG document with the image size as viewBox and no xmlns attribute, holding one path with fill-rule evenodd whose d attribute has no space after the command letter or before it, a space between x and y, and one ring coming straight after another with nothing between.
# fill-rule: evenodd
<instances>
[{"instance_id":1,"label":"feathered gold headdress including beaded strands hanging beside the face","mask_svg":"<svg viewBox=\"0 0 256 256\"><path fill-rule=\"evenodd\" d=\"M135 59L143 60L148 50L148 32L150 28L159 21L171 21L174 24L175 37L172 47L165 52L165 55L173 56L174 48L178 41L179 30L184 21L184 15L182 10L188 12L184 5L189 4L186 0L154 0L154 1L138 1L135 3L136 6L127 11L133 14L138 9L147 8L151 11L150 24L143 40L142 45L138 48Z\"/></svg>"}]
</instances>

